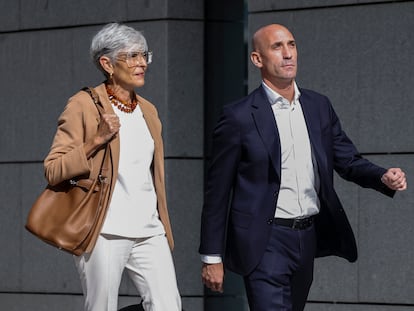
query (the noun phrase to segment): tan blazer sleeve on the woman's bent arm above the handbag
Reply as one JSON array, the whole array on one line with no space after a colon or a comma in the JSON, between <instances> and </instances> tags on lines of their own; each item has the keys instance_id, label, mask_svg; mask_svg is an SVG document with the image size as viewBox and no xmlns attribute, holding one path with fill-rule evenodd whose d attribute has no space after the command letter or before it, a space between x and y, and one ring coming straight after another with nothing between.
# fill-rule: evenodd
<instances>
[{"instance_id":1,"label":"tan blazer sleeve on the woman's bent arm above the handbag","mask_svg":"<svg viewBox=\"0 0 414 311\"><path fill-rule=\"evenodd\" d=\"M92 161L86 158L83 145L91 139L88 132L96 133L99 113L89 95L82 93L69 99L58 119L52 146L44 160L45 177L50 185L88 175L92 169Z\"/></svg>"}]
</instances>

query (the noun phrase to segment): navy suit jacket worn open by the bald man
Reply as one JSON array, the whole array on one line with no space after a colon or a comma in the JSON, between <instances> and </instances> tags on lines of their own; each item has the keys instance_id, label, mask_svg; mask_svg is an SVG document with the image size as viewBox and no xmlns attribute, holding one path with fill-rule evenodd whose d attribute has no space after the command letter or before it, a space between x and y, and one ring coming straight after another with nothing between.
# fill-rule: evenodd
<instances>
[{"instance_id":1,"label":"navy suit jacket worn open by the bald man","mask_svg":"<svg viewBox=\"0 0 414 311\"><path fill-rule=\"evenodd\" d=\"M361 157L342 131L329 99L300 89L300 102L318 164L321 208L316 216L317 256L353 262L352 228L334 190L333 171L388 196L386 169ZM213 135L201 219L200 254L219 254L225 266L246 275L259 263L269 240L280 188L281 152L276 120L262 86L227 105Z\"/></svg>"}]
</instances>

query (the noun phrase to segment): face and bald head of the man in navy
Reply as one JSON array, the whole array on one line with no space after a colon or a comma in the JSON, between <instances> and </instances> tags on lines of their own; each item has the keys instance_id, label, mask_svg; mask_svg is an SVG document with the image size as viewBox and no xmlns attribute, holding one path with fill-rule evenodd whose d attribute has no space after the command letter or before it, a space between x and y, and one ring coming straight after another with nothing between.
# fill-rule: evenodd
<instances>
[{"instance_id":1,"label":"face and bald head of the man in navy","mask_svg":"<svg viewBox=\"0 0 414 311\"><path fill-rule=\"evenodd\" d=\"M297 72L297 50L290 31L280 25L270 25L262 29L256 39L252 61L260 68L262 77L274 82L294 80Z\"/></svg>"}]
</instances>

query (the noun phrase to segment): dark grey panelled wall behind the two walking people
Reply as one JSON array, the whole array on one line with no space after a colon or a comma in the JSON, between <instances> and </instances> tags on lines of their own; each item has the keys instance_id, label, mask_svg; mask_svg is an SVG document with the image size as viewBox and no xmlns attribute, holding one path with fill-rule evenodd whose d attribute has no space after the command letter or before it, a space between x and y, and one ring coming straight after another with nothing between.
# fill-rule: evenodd
<instances>
[{"instance_id":1,"label":"dark grey panelled wall behind the two walking people","mask_svg":"<svg viewBox=\"0 0 414 311\"><path fill-rule=\"evenodd\" d=\"M0 0L0 310L81 310L72 258L23 226L45 186L42 160L67 98L102 81L88 47L107 22L144 30L155 54L139 93L158 107L164 125L174 258L185 310L201 311L204 304L206 310L247 310L238 276L227 275L223 295L204 292L197 248L211 129L224 102L260 82L244 41L259 26L279 22L294 32L298 84L328 95L360 151L378 164L403 167L411 181L414 1L250 0L246 15L243 4ZM306 310L412 309L411 188L393 200L339 179L337 188L360 258L354 264L318 259ZM127 278L120 293L120 306L136 301Z\"/></svg>"}]
</instances>

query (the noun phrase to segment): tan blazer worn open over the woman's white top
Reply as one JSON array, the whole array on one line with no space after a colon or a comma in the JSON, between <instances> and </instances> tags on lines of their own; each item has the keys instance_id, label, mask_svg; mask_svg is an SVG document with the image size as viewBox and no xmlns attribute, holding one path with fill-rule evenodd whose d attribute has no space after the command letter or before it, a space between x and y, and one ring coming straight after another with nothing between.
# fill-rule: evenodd
<instances>
[{"instance_id":1,"label":"tan blazer worn open over the woman's white top","mask_svg":"<svg viewBox=\"0 0 414 311\"><path fill-rule=\"evenodd\" d=\"M99 100L106 113L114 113L109 102L105 85L101 84L95 88ZM153 104L137 95L139 107L144 115L145 122L154 140L154 159L152 173L155 191L157 194L157 208L162 224L167 234L170 249L174 248L170 219L166 203L165 178L164 178L164 147L161 136L162 125L158 117L157 109ZM88 93L80 91L71 97L58 120L58 128L50 148L50 152L44 160L45 176L50 185L56 185L64 180L76 176L95 177L99 173L104 149L99 150L96 155L87 159L83 144L92 140L96 134L100 121L99 112ZM122 126L122 125L121 125ZM111 191L106 198L105 209L108 209L112 192L118 175L119 165L119 135L110 142L111 152ZM99 220L97 232L87 248L90 252L102 229L105 214Z\"/></svg>"}]
</instances>

